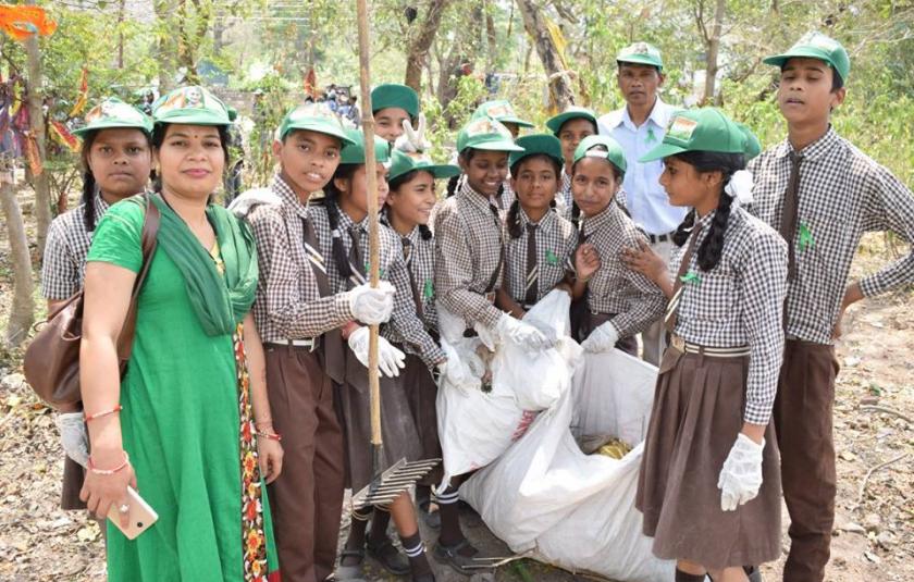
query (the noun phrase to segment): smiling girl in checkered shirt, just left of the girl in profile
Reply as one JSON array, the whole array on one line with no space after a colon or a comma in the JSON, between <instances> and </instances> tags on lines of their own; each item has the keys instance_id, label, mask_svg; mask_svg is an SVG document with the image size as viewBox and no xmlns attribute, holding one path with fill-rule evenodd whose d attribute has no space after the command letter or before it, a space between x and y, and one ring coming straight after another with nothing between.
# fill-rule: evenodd
<instances>
[{"instance_id":1,"label":"smiling girl in checkered shirt, just left of the girl in profile","mask_svg":"<svg viewBox=\"0 0 914 582\"><path fill-rule=\"evenodd\" d=\"M583 258L595 253L600 260L600 269L586 282L585 305L572 306L572 334L586 351L617 347L637 356L634 335L663 314L666 300L653 282L621 262L625 248L645 239L614 203L626 171L625 154L612 137L589 136L575 152L572 171Z\"/></svg>"}]
</instances>

